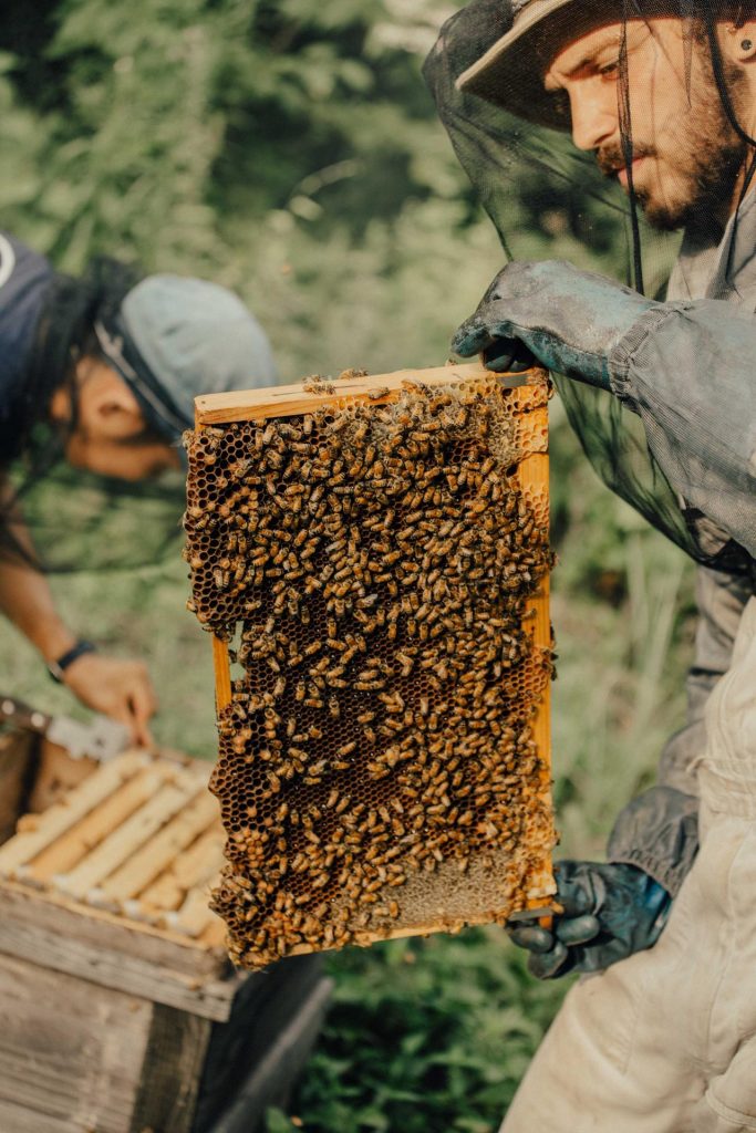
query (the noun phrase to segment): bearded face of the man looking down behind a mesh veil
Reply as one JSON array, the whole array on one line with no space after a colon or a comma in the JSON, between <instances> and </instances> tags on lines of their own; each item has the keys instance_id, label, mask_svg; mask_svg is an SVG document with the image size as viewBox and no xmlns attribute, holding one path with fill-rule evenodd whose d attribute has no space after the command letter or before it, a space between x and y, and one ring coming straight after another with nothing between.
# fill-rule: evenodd
<instances>
[{"instance_id":1,"label":"bearded face of the man looking down behind a mesh veil","mask_svg":"<svg viewBox=\"0 0 756 1133\"><path fill-rule=\"evenodd\" d=\"M727 61L725 71L742 110L738 102L748 91L740 71ZM544 82L569 96L576 146L593 150L602 172L626 191L632 185L652 224L677 229L702 215L724 223L746 147L722 105L708 46L689 32L686 37L681 20L635 19L593 31L560 50Z\"/></svg>"}]
</instances>

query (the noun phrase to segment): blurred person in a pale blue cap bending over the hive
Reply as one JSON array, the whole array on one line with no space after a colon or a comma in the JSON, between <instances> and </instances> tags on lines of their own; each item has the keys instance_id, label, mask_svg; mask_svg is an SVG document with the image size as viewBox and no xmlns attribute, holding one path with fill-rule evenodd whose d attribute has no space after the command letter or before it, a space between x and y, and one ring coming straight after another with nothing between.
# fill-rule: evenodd
<instances>
[{"instance_id":1,"label":"blurred person in a pale blue cap bending over the hive","mask_svg":"<svg viewBox=\"0 0 756 1133\"><path fill-rule=\"evenodd\" d=\"M197 394L274 381L263 331L224 288L139 280L107 259L71 279L0 233L0 610L56 680L137 743L151 742L156 706L147 668L100 654L57 612L41 569L53 548L34 547L26 484L58 458L124 480L179 468ZM19 463L25 475L11 487Z\"/></svg>"}]
</instances>

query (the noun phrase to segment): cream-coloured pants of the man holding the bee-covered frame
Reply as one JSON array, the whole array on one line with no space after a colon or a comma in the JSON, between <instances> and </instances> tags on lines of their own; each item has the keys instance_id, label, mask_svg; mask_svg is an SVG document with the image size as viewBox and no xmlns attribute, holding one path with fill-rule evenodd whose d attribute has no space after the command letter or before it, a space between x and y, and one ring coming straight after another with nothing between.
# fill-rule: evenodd
<instances>
[{"instance_id":1,"label":"cream-coloured pants of the man holding the bee-covered frame","mask_svg":"<svg viewBox=\"0 0 756 1133\"><path fill-rule=\"evenodd\" d=\"M572 988L501 1133L756 1130L756 598L706 725L700 851L666 928Z\"/></svg>"}]
</instances>

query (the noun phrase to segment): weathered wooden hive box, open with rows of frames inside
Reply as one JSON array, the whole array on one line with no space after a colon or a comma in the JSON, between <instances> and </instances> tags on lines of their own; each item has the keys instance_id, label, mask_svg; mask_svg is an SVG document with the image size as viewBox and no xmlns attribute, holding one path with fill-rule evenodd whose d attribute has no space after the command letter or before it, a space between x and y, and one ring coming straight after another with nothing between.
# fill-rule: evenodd
<instances>
[{"instance_id":1,"label":"weathered wooden hive box, open with rows of frames inside","mask_svg":"<svg viewBox=\"0 0 756 1133\"><path fill-rule=\"evenodd\" d=\"M39 793L37 761L0 736L0 798ZM3 1133L253 1133L286 1097L328 982L314 957L231 970L207 773L126 752L0 845Z\"/></svg>"}]
</instances>

